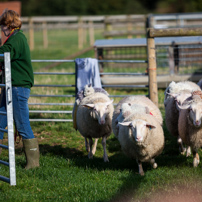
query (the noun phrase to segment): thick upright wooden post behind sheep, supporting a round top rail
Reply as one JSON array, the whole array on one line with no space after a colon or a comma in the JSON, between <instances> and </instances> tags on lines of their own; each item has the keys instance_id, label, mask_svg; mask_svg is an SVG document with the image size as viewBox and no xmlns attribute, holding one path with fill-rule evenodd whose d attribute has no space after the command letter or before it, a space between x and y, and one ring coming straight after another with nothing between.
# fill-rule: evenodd
<instances>
[{"instance_id":1,"label":"thick upright wooden post behind sheep, supporting a round top rail","mask_svg":"<svg viewBox=\"0 0 202 202\"><path fill-rule=\"evenodd\" d=\"M148 74L149 74L149 98L158 106L158 87L156 74L156 50L153 37L149 36L147 31L147 57L148 57Z\"/></svg>"}]
</instances>

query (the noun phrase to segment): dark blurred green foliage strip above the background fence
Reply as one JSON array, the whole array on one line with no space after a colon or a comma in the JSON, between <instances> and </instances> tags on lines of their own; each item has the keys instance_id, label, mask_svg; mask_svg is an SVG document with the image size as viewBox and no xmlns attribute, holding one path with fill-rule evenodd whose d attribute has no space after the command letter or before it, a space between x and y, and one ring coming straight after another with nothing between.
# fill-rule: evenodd
<instances>
[{"instance_id":1,"label":"dark blurred green foliage strip above the background fence","mask_svg":"<svg viewBox=\"0 0 202 202\"><path fill-rule=\"evenodd\" d=\"M3 2L12 0L3 0ZM22 16L201 12L201 0L21 0Z\"/></svg>"}]
</instances>

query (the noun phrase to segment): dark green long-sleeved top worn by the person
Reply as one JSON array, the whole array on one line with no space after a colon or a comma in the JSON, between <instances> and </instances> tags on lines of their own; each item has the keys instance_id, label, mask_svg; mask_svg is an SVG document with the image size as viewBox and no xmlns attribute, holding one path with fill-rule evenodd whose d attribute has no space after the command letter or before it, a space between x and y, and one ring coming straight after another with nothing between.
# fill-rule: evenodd
<instances>
[{"instance_id":1,"label":"dark green long-sleeved top worn by the person","mask_svg":"<svg viewBox=\"0 0 202 202\"><path fill-rule=\"evenodd\" d=\"M29 45L22 31L15 32L0 47L0 54L5 52L10 52L12 86L31 88L34 85L34 74Z\"/></svg>"}]
</instances>

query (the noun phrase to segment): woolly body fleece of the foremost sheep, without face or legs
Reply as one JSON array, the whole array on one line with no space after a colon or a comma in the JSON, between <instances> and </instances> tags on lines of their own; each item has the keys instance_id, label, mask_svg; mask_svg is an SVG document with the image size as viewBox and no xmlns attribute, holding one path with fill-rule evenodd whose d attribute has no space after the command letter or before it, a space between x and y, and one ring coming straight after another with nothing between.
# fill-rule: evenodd
<instances>
[{"instance_id":1,"label":"woolly body fleece of the foremost sheep, without face or legs","mask_svg":"<svg viewBox=\"0 0 202 202\"><path fill-rule=\"evenodd\" d=\"M155 126L154 129L148 128L145 140L141 144L137 144L129 132L128 127L120 126L118 140L121 144L123 152L132 159L138 159L141 162L149 162L152 158L160 155L164 148L164 133L159 122L149 114L132 114L127 117L124 122L133 121L135 119L144 120Z\"/></svg>"}]
</instances>

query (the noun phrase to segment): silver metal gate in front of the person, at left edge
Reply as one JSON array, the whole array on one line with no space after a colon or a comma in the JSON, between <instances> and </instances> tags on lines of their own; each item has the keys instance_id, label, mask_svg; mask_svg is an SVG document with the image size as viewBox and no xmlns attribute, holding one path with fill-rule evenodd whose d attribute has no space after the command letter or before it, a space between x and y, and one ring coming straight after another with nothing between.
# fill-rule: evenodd
<instances>
[{"instance_id":1,"label":"silver metal gate in front of the person, at left edge","mask_svg":"<svg viewBox=\"0 0 202 202\"><path fill-rule=\"evenodd\" d=\"M16 185L10 53L0 54L0 59L2 59L2 58L4 59L5 84L0 84L0 87L5 87L7 111L6 111L6 113L0 111L0 114L1 115L7 115L7 129L0 128L0 131L8 133L8 146L0 144L0 147L4 148L4 149L8 149L9 162L5 162L5 161L0 160L0 164L9 166L10 177L8 178L8 177L0 175L0 180L7 182L7 183L10 183L10 185Z\"/></svg>"}]
</instances>

